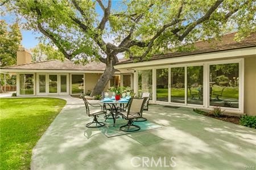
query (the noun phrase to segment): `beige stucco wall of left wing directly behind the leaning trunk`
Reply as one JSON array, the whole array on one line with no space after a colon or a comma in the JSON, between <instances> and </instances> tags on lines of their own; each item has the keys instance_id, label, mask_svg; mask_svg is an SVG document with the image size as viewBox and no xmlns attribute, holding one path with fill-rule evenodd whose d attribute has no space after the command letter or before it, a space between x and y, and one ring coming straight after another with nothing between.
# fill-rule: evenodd
<instances>
[{"instance_id":1,"label":"beige stucco wall of left wing directly behind the leaning trunk","mask_svg":"<svg viewBox=\"0 0 256 170\"><path fill-rule=\"evenodd\" d=\"M85 73L85 93L90 90L92 91L98 79L100 78L100 73ZM108 90L109 84L105 87L104 91Z\"/></svg>"}]
</instances>

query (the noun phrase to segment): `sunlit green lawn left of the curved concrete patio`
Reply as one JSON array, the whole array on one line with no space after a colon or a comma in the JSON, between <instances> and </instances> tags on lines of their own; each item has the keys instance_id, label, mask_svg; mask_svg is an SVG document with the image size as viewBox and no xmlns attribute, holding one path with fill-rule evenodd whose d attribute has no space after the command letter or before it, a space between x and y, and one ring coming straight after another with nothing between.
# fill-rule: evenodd
<instances>
[{"instance_id":1,"label":"sunlit green lawn left of the curved concrete patio","mask_svg":"<svg viewBox=\"0 0 256 170\"><path fill-rule=\"evenodd\" d=\"M0 169L30 169L32 148L65 103L53 98L0 99Z\"/></svg>"}]
</instances>

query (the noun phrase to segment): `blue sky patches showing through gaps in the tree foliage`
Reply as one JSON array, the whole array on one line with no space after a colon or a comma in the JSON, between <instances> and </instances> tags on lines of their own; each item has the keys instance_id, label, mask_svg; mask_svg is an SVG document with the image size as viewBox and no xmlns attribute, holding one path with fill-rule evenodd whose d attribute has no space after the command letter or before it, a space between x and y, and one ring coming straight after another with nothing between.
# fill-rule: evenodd
<instances>
[{"instance_id":1,"label":"blue sky patches showing through gaps in the tree foliage","mask_svg":"<svg viewBox=\"0 0 256 170\"><path fill-rule=\"evenodd\" d=\"M112 8L116 9L118 7L118 0L112 1ZM100 14L100 17L102 16L103 12L101 7L97 4L96 6L96 12ZM13 24L16 20L16 16L13 13L6 13L5 16L0 16L0 19L3 19L8 24ZM38 37L43 36L40 32L35 32L31 30L20 30L22 33L22 45L26 49L31 49L35 47L38 43ZM105 39L107 42L112 42L111 38ZM120 55L118 57L121 57Z\"/></svg>"}]
</instances>

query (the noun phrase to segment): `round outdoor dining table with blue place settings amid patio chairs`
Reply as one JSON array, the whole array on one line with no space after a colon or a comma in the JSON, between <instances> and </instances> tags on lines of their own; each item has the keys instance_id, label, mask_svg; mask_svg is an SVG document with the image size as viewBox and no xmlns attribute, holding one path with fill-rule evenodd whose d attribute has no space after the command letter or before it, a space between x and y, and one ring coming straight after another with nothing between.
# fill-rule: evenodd
<instances>
[{"instance_id":1,"label":"round outdoor dining table with blue place settings amid patio chairs","mask_svg":"<svg viewBox=\"0 0 256 170\"><path fill-rule=\"evenodd\" d=\"M123 108L125 104L127 104L129 99L121 99L121 100L115 100L115 99L104 99L101 100L101 103L108 104L110 107L110 113L112 114L114 125L115 126L115 119L118 118L118 104L121 104L121 107Z\"/></svg>"}]
</instances>

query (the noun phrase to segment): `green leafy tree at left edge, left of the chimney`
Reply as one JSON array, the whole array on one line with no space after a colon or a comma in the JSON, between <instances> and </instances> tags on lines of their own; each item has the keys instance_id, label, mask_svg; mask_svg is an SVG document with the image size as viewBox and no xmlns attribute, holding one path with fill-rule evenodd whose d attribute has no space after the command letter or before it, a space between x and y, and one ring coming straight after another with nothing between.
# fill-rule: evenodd
<instances>
[{"instance_id":1,"label":"green leafy tree at left edge, left of the chimney","mask_svg":"<svg viewBox=\"0 0 256 170\"><path fill-rule=\"evenodd\" d=\"M19 48L22 35L18 23L7 25L0 20L0 66L10 66L16 63L16 52Z\"/></svg>"}]
</instances>

